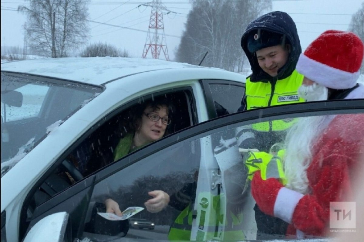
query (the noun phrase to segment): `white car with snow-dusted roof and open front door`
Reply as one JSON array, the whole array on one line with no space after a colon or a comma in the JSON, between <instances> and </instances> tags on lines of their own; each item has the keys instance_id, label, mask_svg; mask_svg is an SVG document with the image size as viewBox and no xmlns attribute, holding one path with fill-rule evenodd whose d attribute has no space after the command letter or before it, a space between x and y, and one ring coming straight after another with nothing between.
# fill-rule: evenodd
<instances>
[{"instance_id":1,"label":"white car with snow-dusted roof and open front door","mask_svg":"<svg viewBox=\"0 0 364 242\"><path fill-rule=\"evenodd\" d=\"M145 59L2 64L1 239L177 240L182 238L171 234L171 226L182 226L176 221L187 208L184 240L255 239L255 202L246 187L237 131L266 121L364 113L364 101L236 113L244 80L224 70ZM84 175L86 151L103 151L97 154L102 160L124 112L160 95L175 105L171 134ZM154 230L129 229L128 222L98 214L105 212L102 198L114 199L122 210L144 207L153 190L169 194L169 206L132 218L153 221ZM238 233L230 237L231 231Z\"/></svg>"}]
</instances>

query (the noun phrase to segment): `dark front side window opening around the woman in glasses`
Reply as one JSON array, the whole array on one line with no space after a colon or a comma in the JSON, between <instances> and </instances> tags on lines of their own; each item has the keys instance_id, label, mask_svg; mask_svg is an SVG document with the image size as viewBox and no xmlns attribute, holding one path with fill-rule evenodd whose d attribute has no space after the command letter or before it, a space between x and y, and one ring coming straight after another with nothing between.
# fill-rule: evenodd
<instances>
[{"instance_id":1,"label":"dark front side window opening around the woman in glasses","mask_svg":"<svg viewBox=\"0 0 364 242\"><path fill-rule=\"evenodd\" d=\"M39 206L84 177L120 159L122 156L119 157L116 153L119 154L122 150L125 150L123 155L137 152L137 149L131 149L131 139L130 142L127 141L130 136L128 130L133 129L133 111L139 105L161 97L168 100L171 108L171 124L167 125L165 136L197 122L189 89L163 95L147 95L120 106L107 117L101 118L71 146L62 162L51 168L51 174L36 190L32 206ZM28 214L28 217L31 216Z\"/></svg>"}]
</instances>

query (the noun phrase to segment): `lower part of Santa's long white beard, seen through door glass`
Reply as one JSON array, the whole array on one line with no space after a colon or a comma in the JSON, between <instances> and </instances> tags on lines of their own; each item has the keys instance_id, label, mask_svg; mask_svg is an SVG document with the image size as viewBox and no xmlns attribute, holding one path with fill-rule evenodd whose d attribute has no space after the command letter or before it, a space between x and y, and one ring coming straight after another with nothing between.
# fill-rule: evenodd
<instances>
[{"instance_id":1,"label":"lower part of Santa's long white beard, seen through door glass","mask_svg":"<svg viewBox=\"0 0 364 242\"><path fill-rule=\"evenodd\" d=\"M285 140L284 172L287 188L309 193L306 170L312 162L313 145L330 119L326 116L303 117L290 128Z\"/></svg>"}]
</instances>

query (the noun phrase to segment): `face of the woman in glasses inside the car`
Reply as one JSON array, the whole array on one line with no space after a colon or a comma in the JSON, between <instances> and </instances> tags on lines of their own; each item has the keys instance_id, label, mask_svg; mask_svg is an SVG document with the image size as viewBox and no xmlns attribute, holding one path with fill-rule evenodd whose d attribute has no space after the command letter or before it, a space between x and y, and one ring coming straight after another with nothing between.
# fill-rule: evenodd
<instances>
[{"instance_id":1,"label":"face of the woman in glasses inside the car","mask_svg":"<svg viewBox=\"0 0 364 242\"><path fill-rule=\"evenodd\" d=\"M153 111L153 108L147 106L142 114L142 123L138 130L138 136L142 143L151 143L159 140L166 132L167 125L162 123L160 118L158 121L150 120L146 114L156 114L161 118L168 118L168 112L166 106L158 106L157 110Z\"/></svg>"}]
</instances>

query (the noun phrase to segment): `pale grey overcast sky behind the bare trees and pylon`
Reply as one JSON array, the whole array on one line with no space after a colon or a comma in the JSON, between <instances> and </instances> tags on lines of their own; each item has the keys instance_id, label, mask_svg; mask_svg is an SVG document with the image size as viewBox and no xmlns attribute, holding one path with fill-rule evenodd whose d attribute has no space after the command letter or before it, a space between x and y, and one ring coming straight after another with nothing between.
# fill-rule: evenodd
<instances>
[{"instance_id":1,"label":"pale grey overcast sky behind the bare trees and pylon","mask_svg":"<svg viewBox=\"0 0 364 242\"><path fill-rule=\"evenodd\" d=\"M237 1L237 0L233 0ZM245 1L245 0L244 0ZM248 0L249 1L249 0ZM141 57L146 41L150 18L150 7L137 0L91 0L90 20L107 24L130 27L128 30L90 22L90 40L107 42L118 48L125 48L134 57ZM351 16L360 7L362 0L276 0L272 11L289 13L296 22L302 50L320 33L328 29L348 30ZM170 59L179 43L179 36L185 29L186 16L191 5L189 0L165 0L162 3L177 14L165 14L165 34ZM23 47L23 24L25 15L16 11L22 0L1 0L1 46ZM237 26L238 27L238 26ZM137 31L140 30L140 31ZM244 30L241 30L243 34ZM239 40L236 40L240 42ZM149 56L151 57L151 56ZM161 56L162 58L162 56Z\"/></svg>"}]
</instances>

